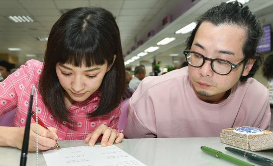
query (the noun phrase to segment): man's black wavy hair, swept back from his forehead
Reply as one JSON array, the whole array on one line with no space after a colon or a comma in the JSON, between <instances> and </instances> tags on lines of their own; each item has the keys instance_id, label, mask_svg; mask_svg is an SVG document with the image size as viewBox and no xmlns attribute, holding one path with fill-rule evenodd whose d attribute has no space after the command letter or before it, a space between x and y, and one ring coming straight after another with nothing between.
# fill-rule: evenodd
<instances>
[{"instance_id":1,"label":"man's black wavy hair, swept back from his forehead","mask_svg":"<svg viewBox=\"0 0 273 166\"><path fill-rule=\"evenodd\" d=\"M249 77L254 76L255 72L263 62L263 55L256 52L261 38L264 34L264 29L257 19L255 14L249 9L248 6L242 5L238 1L222 2L218 6L214 6L207 10L204 14L197 18L197 25L191 32L191 35L186 40L186 48L190 49L193 43L195 34L199 26L203 22L210 22L214 25L234 25L246 29L246 40L243 46L243 54L246 59L256 59L247 76L241 76L240 81L246 81ZM225 33L225 32L223 32Z\"/></svg>"}]
</instances>

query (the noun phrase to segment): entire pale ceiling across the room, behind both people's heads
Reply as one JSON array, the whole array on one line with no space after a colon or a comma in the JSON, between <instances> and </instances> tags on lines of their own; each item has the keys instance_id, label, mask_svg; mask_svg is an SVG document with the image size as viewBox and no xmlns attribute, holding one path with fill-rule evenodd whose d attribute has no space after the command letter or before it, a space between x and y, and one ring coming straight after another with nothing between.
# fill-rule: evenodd
<instances>
[{"instance_id":1,"label":"entire pale ceiling across the room, behind both people's heads","mask_svg":"<svg viewBox=\"0 0 273 166\"><path fill-rule=\"evenodd\" d=\"M12 54L19 57L19 63L24 63L29 58L42 59L46 42L37 40L37 37L47 37L52 25L61 16L62 9L71 9L80 6L100 6L108 9L116 16L120 28L123 53L125 54L149 29L161 23L161 20L169 15L172 8L181 7L183 2L191 0L0 0L0 54ZM150 46L165 37L176 37L174 42L160 46L160 49L141 57L129 66L138 65L141 62L170 58L169 54L180 54L174 59L182 58L185 39L189 34L174 34L175 31L194 21L194 19L213 5L227 0L195 0L196 3L182 15L177 16L171 24L159 31L125 57L125 60L143 52ZM176 4L180 4L176 6ZM273 0L252 0L247 3L257 12L264 24L273 23ZM175 15L176 13L173 13ZM12 23L6 17L8 15L29 15L35 19L33 23ZM155 29L155 28L154 28ZM7 48L21 48L21 51L10 52ZM26 57L26 54L36 54L38 57ZM127 66L126 66L127 67Z\"/></svg>"}]
</instances>

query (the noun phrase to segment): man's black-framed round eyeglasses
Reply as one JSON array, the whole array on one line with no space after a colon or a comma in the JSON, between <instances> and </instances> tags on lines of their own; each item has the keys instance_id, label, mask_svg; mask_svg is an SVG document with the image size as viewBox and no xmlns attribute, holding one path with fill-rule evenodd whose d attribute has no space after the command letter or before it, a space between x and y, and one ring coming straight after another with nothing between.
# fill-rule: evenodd
<instances>
[{"instance_id":1,"label":"man's black-framed round eyeglasses","mask_svg":"<svg viewBox=\"0 0 273 166\"><path fill-rule=\"evenodd\" d=\"M234 64L228 60L221 59L221 58L209 58L205 57L204 55L201 55L200 53L194 52L194 51L183 51L183 54L186 56L186 61L189 65L193 67L201 67L205 60L210 61L210 67L211 69L220 75L227 75L229 74L233 69L239 67L241 64L243 64L246 61L246 58L244 58L242 61L240 61L237 64Z\"/></svg>"}]
</instances>

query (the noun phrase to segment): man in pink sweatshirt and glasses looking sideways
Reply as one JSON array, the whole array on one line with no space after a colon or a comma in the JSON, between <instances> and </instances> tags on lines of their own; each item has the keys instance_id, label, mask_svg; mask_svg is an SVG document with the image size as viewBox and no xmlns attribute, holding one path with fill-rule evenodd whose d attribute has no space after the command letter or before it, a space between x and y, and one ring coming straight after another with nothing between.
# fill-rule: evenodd
<instances>
[{"instance_id":1,"label":"man in pink sweatshirt and glasses looking sideways","mask_svg":"<svg viewBox=\"0 0 273 166\"><path fill-rule=\"evenodd\" d=\"M147 77L133 94L128 138L210 137L224 128L270 129L269 92L253 78L263 28L248 6L221 3L186 41L188 67Z\"/></svg>"}]
</instances>

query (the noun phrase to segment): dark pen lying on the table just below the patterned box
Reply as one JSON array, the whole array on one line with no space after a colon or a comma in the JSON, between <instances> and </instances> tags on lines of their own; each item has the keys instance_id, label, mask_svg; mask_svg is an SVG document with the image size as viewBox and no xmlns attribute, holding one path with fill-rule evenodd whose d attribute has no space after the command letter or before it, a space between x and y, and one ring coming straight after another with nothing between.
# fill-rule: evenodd
<instances>
[{"instance_id":1,"label":"dark pen lying on the table just below the patterned box","mask_svg":"<svg viewBox=\"0 0 273 166\"><path fill-rule=\"evenodd\" d=\"M241 151L239 149L230 148L230 147L225 147L225 149L228 150L229 152L232 152L232 153L236 154L236 155L245 157L249 161L251 161L253 163L257 163L257 164L259 164L261 166L273 166L273 160L264 158L262 156L258 156L258 155L255 155L253 153Z\"/></svg>"}]
</instances>

